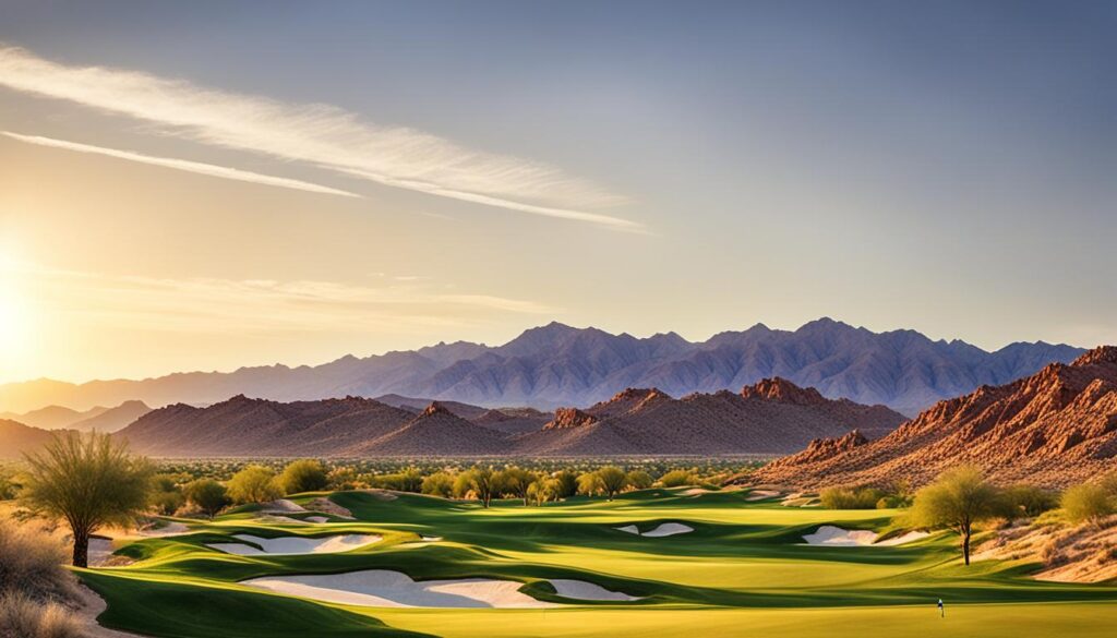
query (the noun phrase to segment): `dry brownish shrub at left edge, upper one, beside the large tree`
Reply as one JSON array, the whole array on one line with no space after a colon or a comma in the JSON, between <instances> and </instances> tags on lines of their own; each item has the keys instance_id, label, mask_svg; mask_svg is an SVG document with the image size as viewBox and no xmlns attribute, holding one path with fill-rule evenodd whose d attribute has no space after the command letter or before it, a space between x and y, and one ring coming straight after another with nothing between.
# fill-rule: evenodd
<instances>
[{"instance_id":1,"label":"dry brownish shrub at left edge, upper one, beside the large tree","mask_svg":"<svg viewBox=\"0 0 1117 638\"><path fill-rule=\"evenodd\" d=\"M61 541L41 526L0 520L0 593L39 602L74 598L74 577L63 566L66 554Z\"/></svg>"}]
</instances>

